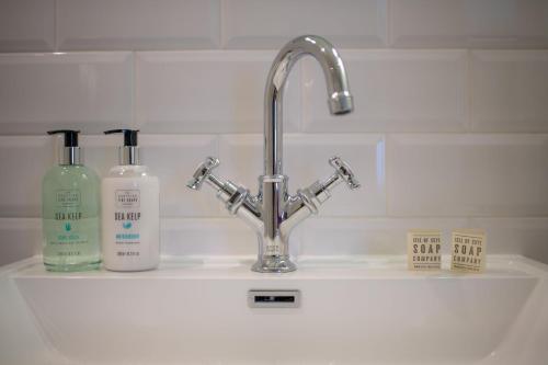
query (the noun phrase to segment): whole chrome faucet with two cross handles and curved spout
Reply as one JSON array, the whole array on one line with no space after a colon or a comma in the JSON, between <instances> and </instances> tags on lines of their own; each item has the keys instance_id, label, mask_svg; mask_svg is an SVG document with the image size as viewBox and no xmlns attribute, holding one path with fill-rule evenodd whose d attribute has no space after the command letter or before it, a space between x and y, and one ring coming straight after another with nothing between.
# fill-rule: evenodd
<instances>
[{"instance_id":1,"label":"whole chrome faucet with two cross handles and curved spout","mask_svg":"<svg viewBox=\"0 0 548 365\"><path fill-rule=\"evenodd\" d=\"M252 196L243 186L219 179L212 173L219 160L208 157L186 184L199 190L204 182L217 191L232 215L242 218L259 237L259 258L252 270L261 273L285 273L297 267L289 259L289 233L300 221L318 213L318 207L330 196L339 183L354 190L359 187L351 168L339 157L329 163L335 172L324 181L316 181L306 189L288 194L283 173L282 100L284 84L295 62L311 55L323 69L328 87L331 114L352 112L353 101L344 65L336 49L326 39L305 35L287 43L278 53L269 72L264 95L264 173L259 176L259 194Z\"/></svg>"}]
</instances>

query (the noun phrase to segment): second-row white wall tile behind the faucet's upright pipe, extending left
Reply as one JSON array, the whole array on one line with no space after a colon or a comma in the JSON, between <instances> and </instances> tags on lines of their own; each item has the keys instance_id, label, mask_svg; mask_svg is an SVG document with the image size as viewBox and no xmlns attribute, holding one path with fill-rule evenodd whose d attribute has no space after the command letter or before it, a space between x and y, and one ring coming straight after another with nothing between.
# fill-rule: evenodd
<instances>
[{"instance_id":1,"label":"second-row white wall tile behind the faucet's upright pipe, extending left","mask_svg":"<svg viewBox=\"0 0 548 365\"><path fill-rule=\"evenodd\" d=\"M137 54L137 125L148 133L262 132L263 90L275 52ZM286 130L297 130L299 72L286 89Z\"/></svg>"}]
</instances>

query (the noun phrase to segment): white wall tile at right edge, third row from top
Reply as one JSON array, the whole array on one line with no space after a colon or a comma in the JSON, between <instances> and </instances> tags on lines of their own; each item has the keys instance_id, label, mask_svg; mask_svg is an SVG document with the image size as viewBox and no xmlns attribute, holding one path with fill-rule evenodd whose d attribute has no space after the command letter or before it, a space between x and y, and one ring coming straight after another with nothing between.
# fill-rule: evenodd
<instances>
[{"instance_id":1,"label":"white wall tile at right edge, third row from top","mask_svg":"<svg viewBox=\"0 0 548 365\"><path fill-rule=\"evenodd\" d=\"M548 216L548 135L391 135L392 216Z\"/></svg>"}]
</instances>

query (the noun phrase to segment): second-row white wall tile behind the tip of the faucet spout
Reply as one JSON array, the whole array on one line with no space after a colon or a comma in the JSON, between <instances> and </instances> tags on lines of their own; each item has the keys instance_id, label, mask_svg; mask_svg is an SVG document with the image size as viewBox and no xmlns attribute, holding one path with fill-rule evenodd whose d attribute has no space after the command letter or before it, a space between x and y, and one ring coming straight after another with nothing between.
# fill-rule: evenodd
<instances>
[{"instance_id":1,"label":"second-row white wall tile behind the tip of the faucet spout","mask_svg":"<svg viewBox=\"0 0 548 365\"><path fill-rule=\"evenodd\" d=\"M342 50L355 112L326 112L318 62L304 62L305 132L464 132L466 50Z\"/></svg>"}]
</instances>

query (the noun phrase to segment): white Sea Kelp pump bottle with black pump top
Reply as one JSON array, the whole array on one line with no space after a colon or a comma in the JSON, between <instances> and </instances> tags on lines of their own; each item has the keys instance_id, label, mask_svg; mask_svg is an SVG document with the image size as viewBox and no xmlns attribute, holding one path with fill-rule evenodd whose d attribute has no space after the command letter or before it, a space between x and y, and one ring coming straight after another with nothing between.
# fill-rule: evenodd
<instances>
[{"instance_id":1,"label":"white Sea Kelp pump bottle with black pump top","mask_svg":"<svg viewBox=\"0 0 548 365\"><path fill-rule=\"evenodd\" d=\"M151 270L160 262L160 187L146 166L139 164L137 133L122 133L119 164L101 183L104 266L112 271Z\"/></svg>"}]
</instances>

